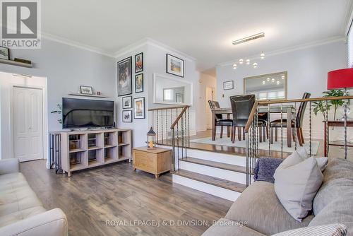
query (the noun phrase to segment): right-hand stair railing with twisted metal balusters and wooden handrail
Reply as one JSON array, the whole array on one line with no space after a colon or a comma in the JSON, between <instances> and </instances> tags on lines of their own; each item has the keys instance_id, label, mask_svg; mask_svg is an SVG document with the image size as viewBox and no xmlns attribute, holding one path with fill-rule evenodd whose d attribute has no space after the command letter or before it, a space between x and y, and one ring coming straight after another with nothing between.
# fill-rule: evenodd
<instances>
[{"instance_id":1,"label":"right-hand stair railing with twisted metal balusters and wooden handrail","mask_svg":"<svg viewBox=\"0 0 353 236\"><path fill-rule=\"evenodd\" d=\"M256 101L255 104L253 105L253 108L251 110L251 114L249 116L248 122L246 123L246 127L244 129L245 131L245 140L246 140L246 185L249 186L251 184L251 179L253 176L253 170L256 165L256 160L260 156L265 156L265 153L268 153L268 157L272 157L273 153L276 153L276 156L278 157L278 151L274 151L273 148L271 147L273 145L273 129L275 129L275 136L277 137L277 127L275 128L270 128L270 117L272 117L271 113L273 113L273 110L280 110L280 158L284 158L284 144L287 144L287 146L291 147L292 146L292 139L294 141L294 150L297 150L297 142L299 142L299 145L302 146L304 144L304 135L303 131L301 129L300 124L297 124L297 105L298 103L301 102L307 102L309 105L309 120L304 119L304 121L309 122L309 155L313 154L313 135L312 135L312 126L313 126L313 121L312 121L312 103L313 102L323 102L324 107L323 107L323 117L324 117L324 136L325 136L325 143L324 143L324 148L325 148L325 153L329 152L329 137L328 137L328 108L329 104L328 102L333 101L333 100L350 100L353 99L353 96L341 96L341 97L325 97L325 98L306 98L306 99L293 99L293 100L261 100L261 101ZM286 107L284 107L284 104ZM345 148L345 159L347 159L347 102L344 102L344 122L343 122L343 127L344 127L344 148ZM275 108L275 109L274 109ZM287 112L285 111L287 110ZM262 150L261 152L259 151L258 148L258 113L260 112L267 112L268 114L268 129L271 129L271 134L270 138L268 138L268 150ZM278 113L278 112L277 112ZM285 125L284 121L285 119L283 118L283 113L286 113L287 115L289 114L289 117L286 117L287 119L290 119L289 122ZM292 119L293 115L293 119ZM288 120L287 120L288 121ZM293 121L293 122L292 122ZM301 124L302 125L302 124ZM287 143L284 142L284 129L286 129L286 135L287 135ZM288 133L290 132L290 134ZM289 143L289 141L291 143ZM268 152L267 152L268 151ZM260 154L261 153L261 154Z\"/></svg>"}]
</instances>

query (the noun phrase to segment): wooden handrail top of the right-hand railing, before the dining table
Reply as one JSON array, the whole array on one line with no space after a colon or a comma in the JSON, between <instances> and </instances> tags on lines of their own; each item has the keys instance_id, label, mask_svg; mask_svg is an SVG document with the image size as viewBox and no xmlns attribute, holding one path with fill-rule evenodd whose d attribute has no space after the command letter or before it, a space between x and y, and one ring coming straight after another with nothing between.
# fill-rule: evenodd
<instances>
[{"instance_id":1,"label":"wooden handrail top of the right-hand railing, before the dining table","mask_svg":"<svg viewBox=\"0 0 353 236\"><path fill-rule=\"evenodd\" d=\"M332 101L332 100L347 100L353 99L352 95L349 96L340 96L340 97L323 97L323 98L300 98L300 99L289 99L289 100L265 100L265 101L256 101L251 109L248 122L246 122L245 133L250 129L251 122L253 122L253 117L258 106L277 104L277 103L292 103L292 102L317 102L317 101Z\"/></svg>"}]
</instances>

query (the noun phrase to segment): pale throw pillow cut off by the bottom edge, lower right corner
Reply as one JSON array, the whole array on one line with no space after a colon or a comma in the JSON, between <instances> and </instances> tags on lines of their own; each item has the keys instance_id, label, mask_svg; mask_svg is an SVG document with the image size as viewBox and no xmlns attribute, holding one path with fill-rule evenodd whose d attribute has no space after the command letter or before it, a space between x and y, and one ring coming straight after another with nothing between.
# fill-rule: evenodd
<instances>
[{"instance_id":1,"label":"pale throw pillow cut off by the bottom edge, lower right corner","mask_svg":"<svg viewBox=\"0 0 353 236\"><path fill-rule=\"evenodd\" d=\"M347 227L345 225L332 224L288 230L272 236L345 236L346 233Z\"/></svg>"}]
</instances>

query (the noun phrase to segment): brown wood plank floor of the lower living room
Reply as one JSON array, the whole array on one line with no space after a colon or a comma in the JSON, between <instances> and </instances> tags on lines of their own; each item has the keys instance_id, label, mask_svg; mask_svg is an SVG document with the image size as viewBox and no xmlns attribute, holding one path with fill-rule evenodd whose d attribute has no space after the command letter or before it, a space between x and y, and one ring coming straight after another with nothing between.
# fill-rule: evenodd
<instances>
[{"instance_id":1,"label":"brown wood plank floor of the lower living room","mask_svg":"<svg viewBox=\"0 0 353 236\"><path fill-rule=\"evenodd\" d=\"M208 226L187 226L188 220L212 223L232 205L173 184L170 174L155 179L145 172L133 172L131 163L73 172L68 178L47 170L44 160L36 160L21 163L21 172L45 208L61 208L66 213L69 235L201 235ZM126 225L107 226L106 220ZM173 220L175 226L136 225L134 220L161 220L161 224Z\"/></svg>"}]
</instances>

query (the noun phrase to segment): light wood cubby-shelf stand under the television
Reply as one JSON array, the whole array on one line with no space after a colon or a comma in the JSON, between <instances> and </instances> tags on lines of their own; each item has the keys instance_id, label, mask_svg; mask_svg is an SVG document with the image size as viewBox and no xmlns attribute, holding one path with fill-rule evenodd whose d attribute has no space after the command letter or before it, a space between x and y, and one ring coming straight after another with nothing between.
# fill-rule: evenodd
<instances>
[{"instance_id":1,"label":"light wood cubby-shelf stand under the television","mask_svg":"<svg viewBox=\"0 0 353 236\"><path fill-rule=\"evenodd\" d=\"M71 172L131 160L131 129L59 131L61 169Z\"/></svg>"}]
</instances>

